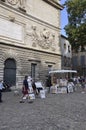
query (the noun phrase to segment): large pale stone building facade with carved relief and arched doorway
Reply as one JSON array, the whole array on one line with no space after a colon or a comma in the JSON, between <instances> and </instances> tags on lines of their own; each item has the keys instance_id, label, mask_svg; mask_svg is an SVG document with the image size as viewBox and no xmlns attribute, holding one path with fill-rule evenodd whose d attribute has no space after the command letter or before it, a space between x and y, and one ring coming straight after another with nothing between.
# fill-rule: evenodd
<instances>
[{"instance_id":1,"label":"large pale stone building facade with carved relief and arched doorway","mask_svg":"<svg viewBox=\"0 0 86 130\"><path fill-rule=\"evenodd\" d=\"M59 0L0 0L0 79L20 86L61 69Z\"/></svg>"}]
</instances>

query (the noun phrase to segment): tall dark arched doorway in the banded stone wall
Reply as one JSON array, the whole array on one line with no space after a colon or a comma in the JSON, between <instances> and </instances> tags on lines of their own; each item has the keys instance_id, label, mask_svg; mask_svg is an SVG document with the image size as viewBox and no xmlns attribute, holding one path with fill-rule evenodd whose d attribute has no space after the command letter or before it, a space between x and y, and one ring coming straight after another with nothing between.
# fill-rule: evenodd
<instances>
[{"instance_id":1,"label":"tall dark arched doorway in the banded stone wall","mask_svg":"<svg viewBox=\"0 0 86 130\"><path fill-rule=\"evenodd\" d=\"M16 62L8 58L4 62L4 82L9 86L16 85Z\"/></svg>"}]
</instances>

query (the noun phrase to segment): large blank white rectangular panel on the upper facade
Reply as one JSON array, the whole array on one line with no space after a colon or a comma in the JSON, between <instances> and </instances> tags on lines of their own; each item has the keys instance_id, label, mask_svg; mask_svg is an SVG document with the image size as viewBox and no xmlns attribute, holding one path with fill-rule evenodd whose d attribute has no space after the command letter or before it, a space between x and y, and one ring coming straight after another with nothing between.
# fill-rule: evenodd
<instances>
[{"instance_id":1,"label":"large blank white rectangular panel on the upper facade","mask_svg":"<svg viewBox=\"0 0 86 130\"><path fill-rule=\"evenodd\" d=\"M0 37L24 41L23 27L14 22L0 18Z\"/></svg>"}]
</instances>

